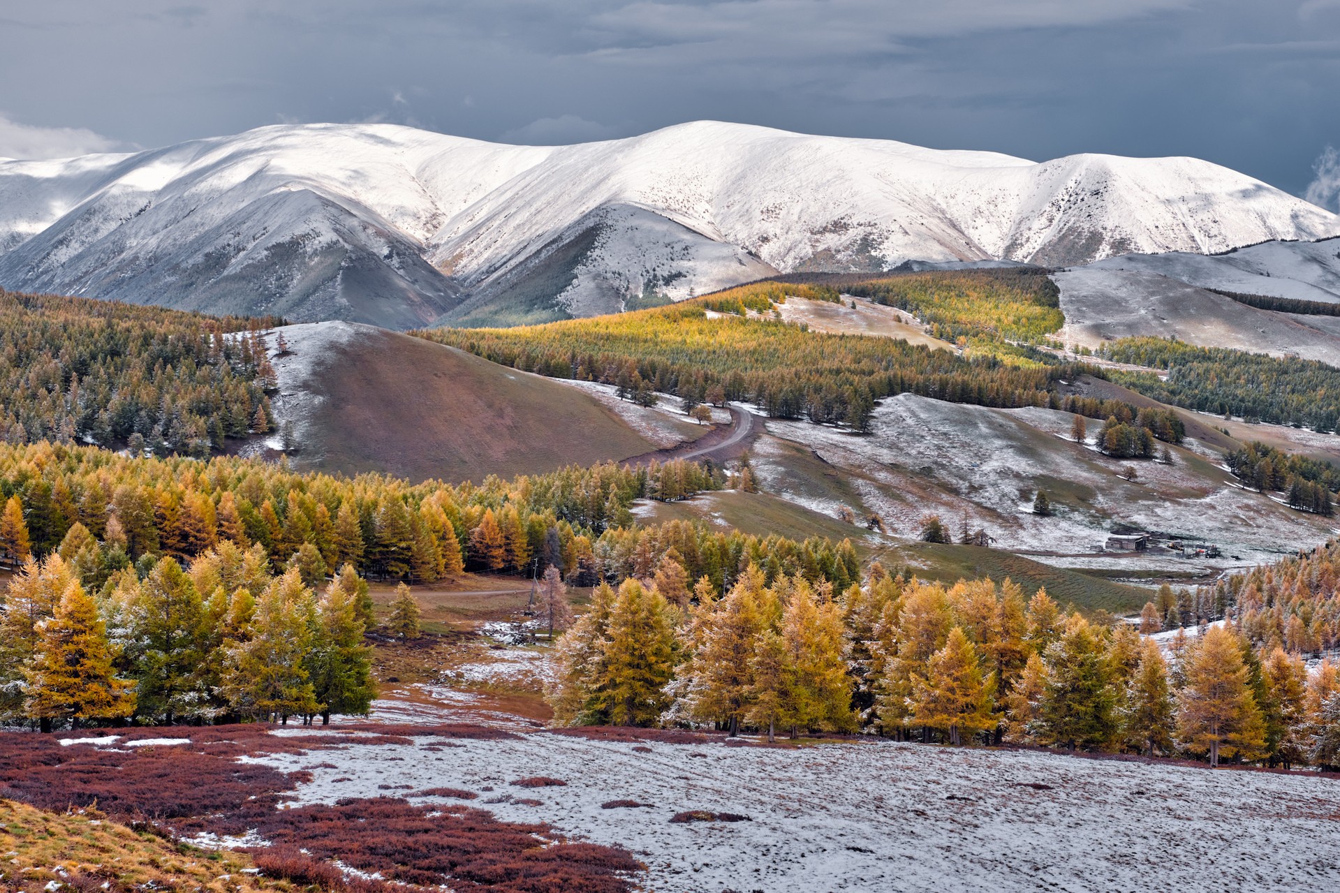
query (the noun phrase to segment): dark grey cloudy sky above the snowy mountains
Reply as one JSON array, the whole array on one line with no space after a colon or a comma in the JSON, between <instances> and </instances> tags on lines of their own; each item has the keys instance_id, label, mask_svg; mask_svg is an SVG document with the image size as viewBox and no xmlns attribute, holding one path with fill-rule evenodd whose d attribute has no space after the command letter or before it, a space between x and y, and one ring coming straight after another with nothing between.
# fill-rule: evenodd
<instances>
[{"instance_id":1,"label":"dark grey cloudy sky above the snowy mountains","mask_svg":"<svg viewBox=\"0 0 1340 893\"><path fill-rule=\"evenodd\" d=\"M391 121L718 118L1043 160L1197 156L1335 205L1340 0L0 0L0 156Z\"/></svg>"}]
</instances>

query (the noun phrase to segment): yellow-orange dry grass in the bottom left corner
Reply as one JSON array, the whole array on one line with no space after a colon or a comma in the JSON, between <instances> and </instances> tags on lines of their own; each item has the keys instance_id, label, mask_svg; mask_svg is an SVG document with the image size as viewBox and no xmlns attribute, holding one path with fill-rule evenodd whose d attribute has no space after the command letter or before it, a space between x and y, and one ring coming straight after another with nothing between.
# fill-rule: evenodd
<instances>
[{"instance_id":1,"label":"yellow-orange dry grass in the bottom left corner","mask_svg":"<svg viewBox=\"0 0 1340 893\"><path fill-rule=\"evenodd\" d=\"M52 882L80 893L293 889L289 884L244 873L252 862L241 853L206 853L176 845L113 822L95 809L46 813L0 800L0 853L4 854L0 889L7 892L44 892Z\"/></svg>"}]
</instances>

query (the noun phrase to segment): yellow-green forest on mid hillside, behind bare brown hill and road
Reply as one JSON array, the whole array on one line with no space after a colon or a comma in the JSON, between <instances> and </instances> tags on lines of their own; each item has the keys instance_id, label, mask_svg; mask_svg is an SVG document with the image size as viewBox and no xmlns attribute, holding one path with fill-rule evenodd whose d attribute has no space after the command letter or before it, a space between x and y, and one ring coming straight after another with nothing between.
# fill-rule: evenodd
<instances>
[{"instance_id":1,"label":"yellow-green forest on mid hillside, behind bare brown hill and road","mask_svg":"<svg viewBox=\"0 0 1340 893\"><path fill-rule=\"evenodd\" d=\"M590 319L413 334L504 366L614 385L634 398L657 392L674 394L686 409L704 402L745 401L772 417L807 418L858 432L868 430L875 401L894 394L981 406L1060 409L1057 382L1085 373L1103 374L1096 367L1053 363L1051 358L1006 362L990 354L958 355L891 338L812 333L756 310L801 288L812 290L766 283ZM813 291L813 296L823 292ZM1134 417L1139 410L1127 405L1124 412Z\"/></svg>"}]
</instances>

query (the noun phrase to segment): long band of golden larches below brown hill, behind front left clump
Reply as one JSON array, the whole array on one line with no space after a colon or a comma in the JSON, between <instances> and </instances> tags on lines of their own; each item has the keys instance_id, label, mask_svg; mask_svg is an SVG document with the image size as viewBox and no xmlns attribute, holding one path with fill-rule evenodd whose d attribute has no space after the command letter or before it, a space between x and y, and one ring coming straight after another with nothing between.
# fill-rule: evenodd
<instances>
[{"instance_id":1,"label":"long band of golden larches below brown hill, behind front left clump","mask_svg":"<svg viewBox=\"0 0 1340 893\"><path fill-rule=\"evenodd\" d=\"M461 573L543 573L620 581L675 550L721 587L749 562L847 585L850 542L753 536L689 522L638 526L634 500L675 500L729 481L697 463L612 463L481 484L355 479L216 457L134 459L88 446L0 445L0 563L46 556L67 539L86 582L145 573L162 555L189 562L230 540L259 546L276 573L319 586L350 564L363 577L431 582ZM72 532L74 531L74 532Z\"/></svg>"}]
</instances>

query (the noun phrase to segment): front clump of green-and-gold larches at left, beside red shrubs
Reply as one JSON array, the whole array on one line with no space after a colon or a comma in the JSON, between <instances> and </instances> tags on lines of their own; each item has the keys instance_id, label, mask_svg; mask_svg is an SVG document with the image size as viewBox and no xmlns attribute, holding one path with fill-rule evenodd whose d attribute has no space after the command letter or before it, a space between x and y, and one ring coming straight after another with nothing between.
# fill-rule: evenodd
<instances>
[{"instance_id":1,"label":"front clump of green-and-gold larches at left, beside red shrubs","mask_svg":"<svg viewBox=\"0 0 1340 893\"><path fill-rule=\"evenodd\" d=\"M297 569L272 573L259 544L224 540L90 594L80 530L27 560L0 599L0 717L51 731L367 712L373 602L351 566L316 595Z\"/></svg>"}]
</instances>

